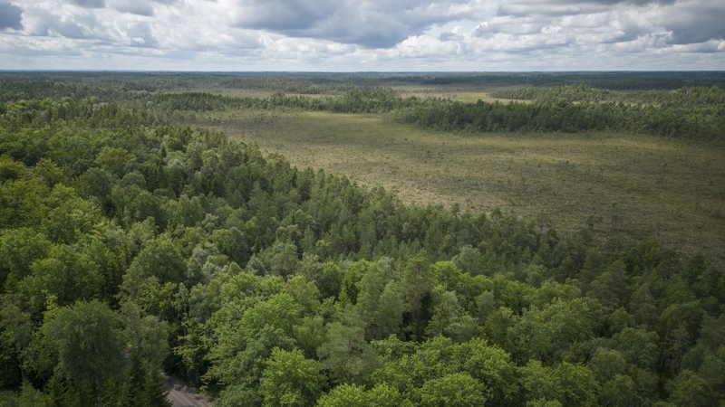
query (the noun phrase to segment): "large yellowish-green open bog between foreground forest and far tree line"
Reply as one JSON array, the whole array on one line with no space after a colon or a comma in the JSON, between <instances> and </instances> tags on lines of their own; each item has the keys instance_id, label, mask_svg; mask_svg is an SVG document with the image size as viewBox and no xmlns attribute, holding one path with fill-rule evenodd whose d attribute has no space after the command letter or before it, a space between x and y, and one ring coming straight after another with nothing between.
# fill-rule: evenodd
<instances>
[{"instance_id":1,"label":"large yellowish-green open bog between foreground forest and far tree line","mask_svg":"<svg viewBox=\"0 0 725 407\"><path fill-rule=\"evenodd\" d=\"M721 150L608 133L431 132L353 114L247 112L201 122L297 166L384 185L408 203L500 205L565 228L598 214L607 234L725 260Z\"/></svg>"}]
</instances>

